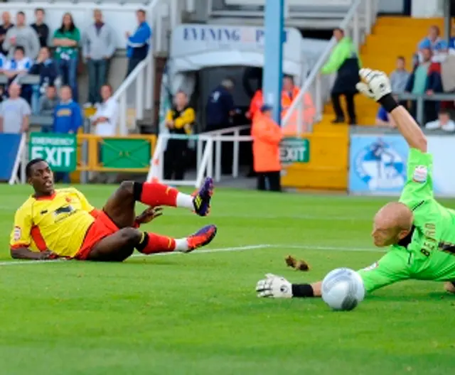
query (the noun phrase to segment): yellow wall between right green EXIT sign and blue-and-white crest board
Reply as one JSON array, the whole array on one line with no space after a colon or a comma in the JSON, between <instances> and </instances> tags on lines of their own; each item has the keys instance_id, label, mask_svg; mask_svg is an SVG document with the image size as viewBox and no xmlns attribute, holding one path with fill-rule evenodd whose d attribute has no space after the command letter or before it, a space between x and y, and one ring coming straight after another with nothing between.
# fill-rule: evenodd
<instances>
[{"instance_id":1,"label":"yellow wall between right green EXIT sign and blue-and-white crest board","mask_svg":"<svg viewBox=\"0 0 455 375\"><path fill-rule=\"evenodd\" d=\"M347 190L349 131L306 134L308 163L284 165L282 185L287 188Z\"/></svg>"}]
</instances>

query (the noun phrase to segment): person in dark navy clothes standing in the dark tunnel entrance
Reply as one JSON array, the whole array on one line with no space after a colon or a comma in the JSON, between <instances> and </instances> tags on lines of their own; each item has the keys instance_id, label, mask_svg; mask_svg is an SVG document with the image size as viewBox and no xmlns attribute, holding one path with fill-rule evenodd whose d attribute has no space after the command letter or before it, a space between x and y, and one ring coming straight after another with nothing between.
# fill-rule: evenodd
<instances>
[{"instance_id":1,"label":"person in dark navy clothes standing in the dark tunnel entrance","mask_svg":"<svg viewBox=\"0 0 455 375\"><path fill-rule=\"evenodd\" d=\"M210 92L205 107L205 131L226 129L232 126L232 116L235 114L233 89L234 81L225 78L218 87ZM225 142L221 150L221 172L230 174L232 172L232 143Z\"/></svg>"}]
</instances>

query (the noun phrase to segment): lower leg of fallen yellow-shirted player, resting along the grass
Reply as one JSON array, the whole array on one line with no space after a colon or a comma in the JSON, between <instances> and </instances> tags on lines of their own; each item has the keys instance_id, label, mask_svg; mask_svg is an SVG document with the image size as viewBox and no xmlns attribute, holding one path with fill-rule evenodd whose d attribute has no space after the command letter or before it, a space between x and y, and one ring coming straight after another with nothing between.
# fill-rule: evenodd
<instances>
[{"instance_id":1,"label":"lower leg of fallen yellow-shirted player, resting along the grass","mask_svg":"<svg viewBox=\"0 0 455 375\"><path fill-rule=\"evenodd\" d=\"M171 251L188 253L205 246L216 235L215 225L203 227L195 234L182 239L141 232L139 229L123 228L95 244L87 255L88 261L124 261L134 249L142 254L158 254Z\"/></svg>"}]
</instances>

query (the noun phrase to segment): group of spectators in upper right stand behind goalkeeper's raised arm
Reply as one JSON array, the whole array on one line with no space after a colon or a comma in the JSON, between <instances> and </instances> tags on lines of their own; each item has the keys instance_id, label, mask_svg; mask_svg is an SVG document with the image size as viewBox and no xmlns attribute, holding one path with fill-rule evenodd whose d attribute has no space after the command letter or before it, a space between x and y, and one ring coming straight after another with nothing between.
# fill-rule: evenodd
<instances>
[{"instance_id":1,"label":"group of spectators in upper right stand behind goalkeeper's raised arm","mask_svg":"<svg viewBox=\"0 0 455 375\"><path fill-rule=\"evenodd\" d=\"M394 94L397 97L403 93L426 96L421 125L428 130L455 131L455 123L450 119L455 101L430 100L434 94L455 93L455 37L444 40L440 37L439 27L431 26L427 36L417 45L417 52L412 59L413 68L408 72L405 58L397 58L397 68L390 75ZM412 116L418 119L416 100L402 100L401 104L407 106ZM395 127L382 108L378 111L376 124Z\"/></svg>"}]
</instances>

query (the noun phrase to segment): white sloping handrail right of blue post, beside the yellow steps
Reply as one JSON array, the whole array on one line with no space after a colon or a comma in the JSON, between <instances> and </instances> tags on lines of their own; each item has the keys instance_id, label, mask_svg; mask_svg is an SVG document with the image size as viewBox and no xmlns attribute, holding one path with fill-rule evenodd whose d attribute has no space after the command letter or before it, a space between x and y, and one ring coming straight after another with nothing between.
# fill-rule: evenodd
<instances>
[{"instance_id":1,"label":"white sloping handrail right of blue post, beside the yellow steps","mask_svg":"<svg viewBox=\"0 0 455 375\"><path fill-rule=\"evenodd\" d=\"M355 43L356 48L360 46L360 25L359 25L359 7L360 5L364 2L365 3L365 11L370 12L370 15L365 16L365 33L369 33L371 30L371 26L374 22L374 18L377 12L377 6L371 6L372 4L368 4L370 1L375 1L375 0L355 0L350 7L348 13L346 13L345 18L343 18L343 21L340 24L340 28L346 29L350 25L350 22L353 21L353 42ZM322 97L322 89L321 89L321 76L320 76L320 70L323 67L323 65L326 63L326 60L330 56L333 47L336 45L336 40L335 38L331 38L330 42L328 43L326 49L323 51L322 55L319 57L317 60L316 64L314 67L311 69L311 72L309 73L308 77L306 77L306 80L304 80L303 84L301 85L299 94L295 97L294 101L291 103L291 106L287 110L286 115L282 119L282 126L287 126L289 124L289 120L291 119L291 116L294 111L299 110L302 106L302 102L304 99L304 94L306 92L309 92L311 89L312 85L315 85L316 87L316 92L315 92L315 107L317 110L322 111L323 109L323 97ZM299 111L301 112L301 111ZM319 117L320 112L316 113L316 118ZM302 121L298 121L297 124L297 134L302 133ZM311 124L312 126L312 124ZM309 129L311 131L311 129Z\"/></svg>"}]
</instances>

